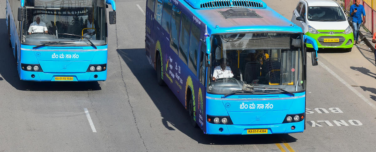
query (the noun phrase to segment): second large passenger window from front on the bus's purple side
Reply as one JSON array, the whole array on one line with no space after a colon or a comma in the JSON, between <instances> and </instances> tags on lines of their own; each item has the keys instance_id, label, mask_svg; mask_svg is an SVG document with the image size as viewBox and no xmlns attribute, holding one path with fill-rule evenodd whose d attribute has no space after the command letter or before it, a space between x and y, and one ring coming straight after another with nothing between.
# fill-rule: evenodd
<instances>
[{"instance_id":1,"label":"second large passenger window from front on the bus's purple side","mask_svg":"<svg viewBox=\"0 0 376 152\"><path fill-rule=\"evenodd\" d=\"M182 15L182 24L180 27L180 41L179 41L179 57L187 64L188 62L188 47L189 47L189 30L191 27L191 21L188 17Z\"/></svg>"}]
</instances>

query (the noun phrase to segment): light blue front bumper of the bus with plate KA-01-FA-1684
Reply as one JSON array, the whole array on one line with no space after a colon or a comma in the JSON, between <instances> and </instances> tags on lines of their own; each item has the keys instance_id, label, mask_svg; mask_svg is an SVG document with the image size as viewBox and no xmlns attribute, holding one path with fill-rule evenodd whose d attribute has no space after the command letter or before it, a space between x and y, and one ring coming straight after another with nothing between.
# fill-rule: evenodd
<instances>
[{"instance_id":1,"label":"light blue front bumper of the bus with plate KA-01-FA-1684","mask_svg":"<svg viewBox=\"0 0 376 152\"><path fill-rule=\"evenodd\" d=\"M55 77L59 79L56 80ZM20 74L21 80L24 81L105 81L106 77L107 70L80 73L47 73L21 70Z\"/></svg>"}]
</instances>

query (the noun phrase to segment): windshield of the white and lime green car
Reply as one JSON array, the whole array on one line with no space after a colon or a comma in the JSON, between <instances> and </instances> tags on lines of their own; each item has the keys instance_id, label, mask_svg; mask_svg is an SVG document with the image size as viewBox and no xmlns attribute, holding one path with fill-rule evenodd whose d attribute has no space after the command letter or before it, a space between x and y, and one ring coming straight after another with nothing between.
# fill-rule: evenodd
<instances>
[{"instance_id":1,"label":"windshield of the white and lime green car","mask_svg":"<svg viewBox=\"0 0 376 152\"><path fill-rule=\"evenodd\" d=\"M309 21L346 21L340 7L333 6L309 6Z\"/></svg>"}]
</instances>

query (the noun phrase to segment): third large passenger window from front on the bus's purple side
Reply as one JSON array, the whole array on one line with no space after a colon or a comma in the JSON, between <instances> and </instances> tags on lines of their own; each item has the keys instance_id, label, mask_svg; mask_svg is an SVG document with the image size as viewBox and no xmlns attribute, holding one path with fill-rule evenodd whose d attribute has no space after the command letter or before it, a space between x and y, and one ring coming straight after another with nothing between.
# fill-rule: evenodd
<instances>
[{"instance_id":1,"label":"third large passenger window from front on the bus's purple side","mask_svg":"<svg viewBox=\"0 0 376 152\"><path fill-rule=\"evenodd\" d=\"M172 7L172 18L171 18L171 38L170 38L170 47L177 54L177 42L179 40L179 29L180 29L180 18L181 13L177 6L173 5Z\"/></svg>"}]
</instances>

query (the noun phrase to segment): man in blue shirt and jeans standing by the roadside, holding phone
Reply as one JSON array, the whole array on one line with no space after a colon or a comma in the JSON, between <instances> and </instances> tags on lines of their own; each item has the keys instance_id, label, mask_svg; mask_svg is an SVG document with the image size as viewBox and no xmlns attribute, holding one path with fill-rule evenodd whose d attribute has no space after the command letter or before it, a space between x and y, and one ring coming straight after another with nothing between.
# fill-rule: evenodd
<instances>
[{"instance_id":1,"label":"man in blue shirt and jeans standing by the roadside, holding phone","mask_svg":"<svg viewBox=\"0 0 376 152\"><path fill-rule=\"evenodd\" d=\"M363 20L362 20L363 14ZM352 24L354 29L354 44L360 44L359 38L359 28L362 21L365 23L365 11L363 5L360 5L360 0L355 0L355 4L350 6L350 15L353 18Z\"/></svg>"}]
</instances>

